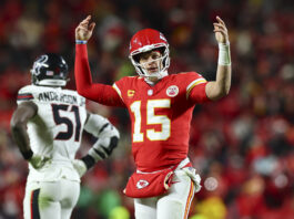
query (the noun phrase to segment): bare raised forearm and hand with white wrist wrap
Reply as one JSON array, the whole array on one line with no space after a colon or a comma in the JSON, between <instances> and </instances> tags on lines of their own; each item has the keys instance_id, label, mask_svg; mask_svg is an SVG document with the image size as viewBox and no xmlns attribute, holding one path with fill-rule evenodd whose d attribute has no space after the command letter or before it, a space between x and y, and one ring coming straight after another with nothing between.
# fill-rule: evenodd
<instances>
[{"instance_id":1,"label":"bare raised forearm and hand with white wrist wrap","mask_svg":"<svg viewBox=\"0 0 294 219\"><path fill-rule=\"evenodd\" d=\"M217 22L213 23L215 39L219 42L216 81L209 82L205 87L206 95L212 101L216 101L229 94L232 74L227 29L220 17L216 17L216 20Z\"/></svg>"}]
</instances>

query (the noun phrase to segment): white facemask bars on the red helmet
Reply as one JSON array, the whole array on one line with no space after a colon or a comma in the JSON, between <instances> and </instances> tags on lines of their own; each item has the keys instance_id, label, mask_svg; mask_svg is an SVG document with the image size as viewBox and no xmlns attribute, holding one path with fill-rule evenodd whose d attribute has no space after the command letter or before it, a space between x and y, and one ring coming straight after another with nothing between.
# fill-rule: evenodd
<instances>
[{"instance_id":1,"label":"white facemask bars on the red helmet","mask_svg":"<svg viewBox=\"0 0 294 219\"><path fill-rule=\"evenodd\" d=\"M152 61L149 61L149 62L141 64L140 60L139 60L139 55L141 53L150 52L153 50L159 50L162 56L156 59L156 60L152 60ZM143 76L146 79L155 77L159 80L159 79L162 79L163 76L165 76L168 74L168 67L170 66L169 53L170 52L169 52L168 45L161 43L161 44L154 44L154 45L145 45L145 46L141 48L140 50L136 50L133 53L131 53L129 58L130 58L132 64L134 65L136 73L140 76ZM159 71L149 73L149 71L145 69L145 66L148 66L149 63L153 63L153 62L156 64L156 67Z\"/></svg>"}]
</instances>

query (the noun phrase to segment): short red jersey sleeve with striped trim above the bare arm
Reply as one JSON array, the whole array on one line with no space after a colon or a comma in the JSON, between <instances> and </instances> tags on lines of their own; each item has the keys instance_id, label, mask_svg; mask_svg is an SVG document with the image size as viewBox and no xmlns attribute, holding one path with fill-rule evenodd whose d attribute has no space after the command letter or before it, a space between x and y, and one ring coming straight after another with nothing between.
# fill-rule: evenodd
<instances>
[{"instance_id":1,"label":"short red jersey sleeve with striped trim above the bare arm","mask_svg":"<svg viewBox=\"0 0 294 219\"><path fill-rule=\"evenodd\" d=\"M186 98L194 103L209 102L209 97L205 92L207 81L199 73L191 72L186 75Z\"/></svg>"}]
</instances>

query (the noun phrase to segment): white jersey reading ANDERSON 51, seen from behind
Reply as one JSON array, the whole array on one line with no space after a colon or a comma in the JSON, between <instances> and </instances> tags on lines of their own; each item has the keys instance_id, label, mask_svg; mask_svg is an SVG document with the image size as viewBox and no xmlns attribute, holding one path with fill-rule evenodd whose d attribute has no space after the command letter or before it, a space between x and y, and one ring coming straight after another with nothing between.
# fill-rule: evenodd
<instances>
[{"instance_id":1,"label":"white jersey reading ANDERSON 51, seen from behind","mask_svg":"<svg viewBox=\"0 0 294 219\"><path fill-rule=\"evenodd\" d=\"M75 91L28 85L18 94L18 104L31 101L37 115L28 123L33 153L51 158L43 168L30 166L28 181L57 181L61 178L80 181L71 159L80 147L87 119L85 98Z\"/></svg>"}]
</instances>

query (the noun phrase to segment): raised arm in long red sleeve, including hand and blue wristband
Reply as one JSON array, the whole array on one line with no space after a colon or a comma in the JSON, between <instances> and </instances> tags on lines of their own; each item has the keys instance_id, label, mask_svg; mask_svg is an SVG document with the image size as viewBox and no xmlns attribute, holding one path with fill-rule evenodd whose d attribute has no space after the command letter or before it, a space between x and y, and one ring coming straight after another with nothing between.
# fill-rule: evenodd
<instances>
[{"instance_id":1,"label":"raised arm in long red sleeve, including hand and blue wristband","mask_svg":"<svg viewBox=\"0 0 294 219\"><path fill-rule=\"evenodd\" d=\"M92 83L91 70L88 61L87 42L91 38L95 23L88 15L75 29L75 62L74 75L77 91L85 98L109 106L123 106L119 94L111 85Z\"/></svg>"}]
</instances>

